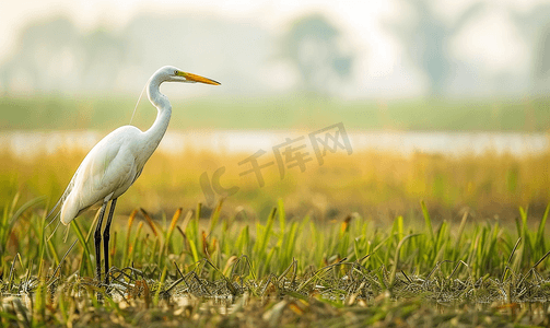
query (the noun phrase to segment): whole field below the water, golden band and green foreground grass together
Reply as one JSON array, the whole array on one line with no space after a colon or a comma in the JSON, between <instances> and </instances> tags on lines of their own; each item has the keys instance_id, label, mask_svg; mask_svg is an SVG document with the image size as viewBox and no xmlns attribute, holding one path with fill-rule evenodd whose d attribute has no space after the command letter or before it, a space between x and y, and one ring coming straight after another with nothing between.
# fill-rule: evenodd
<instances>
[{"instance_id":1,"label":"whole field below the water, golden band and green foreground grass together","mask_svg":"<svg viewBox=\"0 0 550 328\"><path fill-rule=\"evenodd\" d=\"M549 323L549 153L331 154L262 188L227 165L211 207L198 177L242 156L159 153L118 202L109 288L93 212L45 229L83 155L0 154L3 326Z\"/></svg>"}]
</instances>

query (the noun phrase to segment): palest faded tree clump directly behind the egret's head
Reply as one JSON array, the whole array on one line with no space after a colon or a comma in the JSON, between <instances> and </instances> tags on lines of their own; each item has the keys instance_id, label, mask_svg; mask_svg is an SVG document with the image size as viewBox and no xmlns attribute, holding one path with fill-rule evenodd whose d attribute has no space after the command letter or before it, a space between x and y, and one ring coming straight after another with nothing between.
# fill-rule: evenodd
<instances>
[{"instance_id":1,"label":"palest faded tree clump directly behind the egret's head","mask_svg":"<svg viewBox=\"0 0 550 328\"><path fill-rule=\"evenodd\" d=\"M129 43L129 65L141 75L129 77L137 87L163 65L213 75L225 83L223 93L269 92L265 78L272 38L256 23L215 15L143 13L121 31ZM126 77L128 78L128 77ZM141 85L140 85L141 84ZM194 89L195 90L195 89ZM189 94L192 90L186 91ZM219 94L220 92L215 92Z\"/></svg>"}]
</instances>

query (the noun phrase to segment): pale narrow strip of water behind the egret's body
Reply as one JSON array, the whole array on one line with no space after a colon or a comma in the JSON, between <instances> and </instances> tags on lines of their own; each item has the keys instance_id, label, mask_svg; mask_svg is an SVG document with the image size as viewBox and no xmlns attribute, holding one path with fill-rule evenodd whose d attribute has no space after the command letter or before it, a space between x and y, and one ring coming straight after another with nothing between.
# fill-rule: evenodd
<instances>
[{"instance_id":1,"label":"pale narrow strip of water behind the egret's body","mask_svg":"<svg viewBox=\"0 0 550 328\"><path fill-rule=\"evenodd\" d=\"M311 132L313 131L167 131L159 151L178 153L192 149L218 153L254 153L260 149L270 151L288 140L307 143ZM22 157L32 157L40 152L55 153L58 150L89 151L105 134L97 131L0 132L0 150L10 150ZM527 155L545 152L550 147L550 138L546 133L351 131L347 134L353 151L388 151L403 155L414 152L478 155L487 151Z\"/></svg>"}]
</instances>

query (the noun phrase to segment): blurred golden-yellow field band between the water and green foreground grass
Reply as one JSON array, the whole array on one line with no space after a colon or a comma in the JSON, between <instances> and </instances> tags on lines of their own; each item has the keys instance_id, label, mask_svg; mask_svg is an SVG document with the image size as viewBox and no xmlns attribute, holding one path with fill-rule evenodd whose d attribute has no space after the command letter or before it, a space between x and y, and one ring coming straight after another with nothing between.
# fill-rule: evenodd
<instances>
[{"instance_id":1,"label":"blurred golden-yellow field band between the water and green foreground grass","mask_svg":"<svg viewBox=\"0 0 550 328\"><path fill-rule=\"evenodd\" d=\"M0 199L10 201L19 192L22 200L46 196L51 208L85 156L82 151L59 151L31 159L0 153ZM541 213L550 199L550 152L513 156L488 151L482 155L414 153L410 156L378 151L347 155L339 150L325 156L324 165L312 161L305 172L286 169L281 179L276 165L261 171L265 186L254 174L239 176L237 163L249 153L213 153L187 150L168 155L157 152L150 159L136 184L120 198L118 215L144 208L155 215L177 208L206 203L199 177L225 166L222 187L238 187L225 198L225 211L266 218L283 199L289 216L309 214L314 220L340 219L358 212L365 218L391 222L397 215L417 216L424 200L433 219L459 220L466 210L473 219L511 220L518 207ZM272 154L260 163L274 161ZM217 200L219 197L217 198ZM93 215L93 212L86 215Z\"/></svg>"}]
</instances>

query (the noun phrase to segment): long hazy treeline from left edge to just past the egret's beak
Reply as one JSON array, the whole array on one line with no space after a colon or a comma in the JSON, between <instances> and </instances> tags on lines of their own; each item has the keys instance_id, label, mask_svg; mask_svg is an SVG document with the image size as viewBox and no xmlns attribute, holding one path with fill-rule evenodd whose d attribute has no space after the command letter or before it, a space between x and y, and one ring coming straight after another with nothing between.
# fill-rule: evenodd
<instances>
[{"instance_id":1,"label":"long hazy treeline from left edge to just past the egret's beak","mask_svg":"<svg viewBox=\"0 0 550 328\"><path fill-rule=\"evenodd\" d=\"M223 92L232 94L272 85L265 79L272 38L246 21L143 13L117 31L80 31L70 19L55 16L30 22L16 42L0 59L0 93L134 93L164 65L208 70L231 81Z\"/></svg>"}]
</instances>

